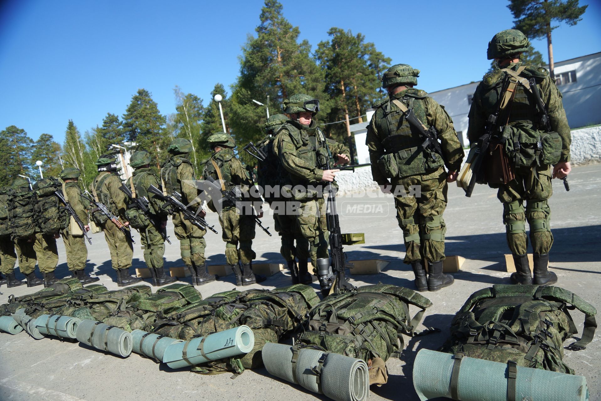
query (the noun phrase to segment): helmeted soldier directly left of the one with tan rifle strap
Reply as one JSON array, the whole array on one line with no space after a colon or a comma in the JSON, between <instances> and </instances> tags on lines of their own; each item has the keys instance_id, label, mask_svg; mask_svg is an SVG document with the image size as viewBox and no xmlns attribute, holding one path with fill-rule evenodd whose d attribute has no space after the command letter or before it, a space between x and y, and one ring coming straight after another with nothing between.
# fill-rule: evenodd
<instances>
[{"instance_id":1,"label":"helmeted soldier directly left of the one with tan rifle strap","mask_svg":"<svg viewBox=\"0 0 601 401\"><path fill-rule=\"evenodd\" d=\"M178 192L182 195L184 205L192 205L197 202L198 189L195 186L196 178L194 168L188 160L188 154L192 151L192 143L188 139L176 138L167 148L171 154L160 169L160 178L165 183L163 190L168 195ZM200 206L200 205L198 205ZM200 216L206 213L201 211ZM180 240L180 252L182 261L192 276L194 285L202 285L215 281L215 276L207 273L204 249L207 243L204 241L206 230L201 230L188 220L184 219L182 213L173 215L175 226L175 237Z\"/></svg>"}]
</instances>

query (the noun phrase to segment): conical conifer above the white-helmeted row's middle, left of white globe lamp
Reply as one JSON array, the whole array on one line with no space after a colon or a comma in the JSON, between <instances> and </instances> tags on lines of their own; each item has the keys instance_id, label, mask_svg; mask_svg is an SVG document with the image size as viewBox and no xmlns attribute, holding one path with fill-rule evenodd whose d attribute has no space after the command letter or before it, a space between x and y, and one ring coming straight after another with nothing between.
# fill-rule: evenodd
<instances>
[{"instance_id":1,"label":"conical conifer above the white-helmeted row's middle, left of white globe lamp","mask_svg":"<svg viewBox=\"0 0 601 401\"><path fill-rule=\"evenodd\" d=\"M123 115L123 133L137 149L145 149L159 163L166 157L169 137L163 127L166 119L146 89L138 89Z\"/></svg>"}]
</instances>

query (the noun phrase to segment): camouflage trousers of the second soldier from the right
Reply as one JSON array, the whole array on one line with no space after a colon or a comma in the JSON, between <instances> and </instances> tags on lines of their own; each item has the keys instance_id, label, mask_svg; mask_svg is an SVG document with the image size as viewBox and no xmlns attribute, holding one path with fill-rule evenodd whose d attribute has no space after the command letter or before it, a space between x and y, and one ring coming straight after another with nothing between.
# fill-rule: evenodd
<instances>
[{"instance_id":1,"label":"camouflage trousers of the second soldier from the right","mask_svg":"<svg viewBox=\"0 0 601 401\"><path fill-rule=\"evenodd\" d=\"M404 262L427 259L437 262L445 259L445 232L447 226L442 214L447 208L447 173L441 167L433 173L394 179L407 196L395 196L398 226L403 230L406 254ZM412 196L412 185L421 188L419 196ZM394 187L393 187L394 188Z\"/></svg>"}]
</instances>

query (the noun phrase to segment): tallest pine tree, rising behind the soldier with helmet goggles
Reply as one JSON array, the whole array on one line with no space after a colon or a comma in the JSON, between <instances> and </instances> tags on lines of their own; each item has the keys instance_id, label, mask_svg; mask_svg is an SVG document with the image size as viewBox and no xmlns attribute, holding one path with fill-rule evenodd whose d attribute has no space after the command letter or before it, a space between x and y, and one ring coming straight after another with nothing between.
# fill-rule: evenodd
<instances>
[{"instance_id":1,"label":"tallest pine tree, rising behind the soldier with helmet goggles","mask_svg":"<svg viewBox=\"0 0 601 401\"><path fill-rule=\"evenodd\" d=\"M266 103L269 95L269 110L276 113L284 98L306 93L319 98L326 113L329 109L323 92L323 71L311 58L308 41L299 42L300 30L285 19L282 5L266 0L259 19L256 37L250 37L242 48L240 76L233 85L231 106L224 110L240 142L264 136L267 113L253 99Z\"/></svg>"}]
</instances>

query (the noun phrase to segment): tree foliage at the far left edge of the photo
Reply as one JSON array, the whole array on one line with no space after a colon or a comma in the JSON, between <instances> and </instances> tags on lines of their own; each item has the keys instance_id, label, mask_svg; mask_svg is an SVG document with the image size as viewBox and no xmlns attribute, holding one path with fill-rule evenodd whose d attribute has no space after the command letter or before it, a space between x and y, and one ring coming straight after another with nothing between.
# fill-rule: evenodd
<instances>
[{"instance_id":1,"label":"tree foliage at the far left edge of the photo","mask_svg":"<svg viewBox=\"0 0 601 401\"><path fill-rule=\"evenodd\" d=\"M0 131L1 186L10 185L19 174L29 175L32 143L23 128L10 125Z\"/></svg>"}]
</instances>

